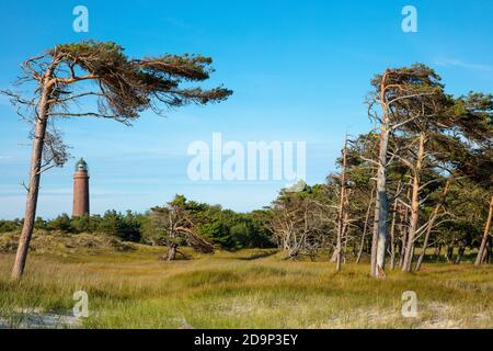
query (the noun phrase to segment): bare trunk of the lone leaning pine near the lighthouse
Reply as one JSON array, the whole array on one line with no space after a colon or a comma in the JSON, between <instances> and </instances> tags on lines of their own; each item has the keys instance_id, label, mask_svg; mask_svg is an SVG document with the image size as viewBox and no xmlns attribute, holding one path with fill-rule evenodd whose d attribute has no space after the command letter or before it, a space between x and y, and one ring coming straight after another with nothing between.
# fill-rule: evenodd
<instances>
[{"instance_id":1,"label":"bare trunk of the lone leaning pine near the lighthouse","mask_svg":"<svg viewBox=\"0 0 493 351\"><path fill-rule=\"evenodd\" d=\"M47 79L47 78L45 78ZM42 172L43 145L45 143L46 125L49 112L49 95L51 88L48 84L43 87L38 103L38 114L34 128L33 148L31 152L30 182L25 202L24 223L19 238L15 261L12 268L12 279L19 280L24 273L27 251L33 236L34 220L36 218L37 196L39 192L39 179Z\"/></svg>"}]
</instances>

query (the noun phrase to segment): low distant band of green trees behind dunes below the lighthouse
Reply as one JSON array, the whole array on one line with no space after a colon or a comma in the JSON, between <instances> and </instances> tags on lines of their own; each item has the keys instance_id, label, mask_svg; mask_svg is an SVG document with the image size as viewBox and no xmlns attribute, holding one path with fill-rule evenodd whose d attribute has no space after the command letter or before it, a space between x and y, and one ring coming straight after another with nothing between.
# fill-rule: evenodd
<instances>
[{"instance_id":1,"label":"low distant band of green trees behind dunes below the lighthouse","mask_svg":"<svg viewBox=\"0 0 493 351\"><path fill-rule=\"evenodd\" d=\"M210 242L213 247L227 250L242 248L270 248L274 244L268 230L263 223L264 212L236 213L223 210L219 205L208 205L187 201L182 195L176 195L187 208L194 208L194 215L200 218L196 224L197 237ZM127 211L121 213L106 211L104 215L84 215L71 217L61 214L53 219L37 217L34 224L37 230L61 231L67 234L89 233L95 235L108 235L124 241L134 241L147 245L169 244L168 227L162 230L156 223L154 207L144 214ZM188 210L187 210L188 211ZM15 231L22 228L23 219L0 220L0 233ZM176 238L176 242L182 242ZM186 240L183 241L186 245Z\"/></svg>"}]
</instances>

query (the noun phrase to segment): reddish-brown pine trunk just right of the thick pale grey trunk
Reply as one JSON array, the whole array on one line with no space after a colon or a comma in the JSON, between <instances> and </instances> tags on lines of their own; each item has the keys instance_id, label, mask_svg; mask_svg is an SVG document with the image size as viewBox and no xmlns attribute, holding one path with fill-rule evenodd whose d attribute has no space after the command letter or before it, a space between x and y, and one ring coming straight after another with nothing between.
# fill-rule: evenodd
<instances>
[{"instance_id":1,"label":"reddish-brown pine trunk just right of the thick pale grey trunk","mask_svg":"<svg viewBox=\"0 0 493 351\"><path fill-rule=\"evenodd\" d=\"M417 230L417 222L420 219L420 177L423 168L423 159L425 154L426 134L422 132L420 134L420 146L416 156L416 166L413 177L413 190L411 200L411 223L409 227L408 245L404 252L404 263L402 264L402 271L411 272L413 262L413 247Z\"/></svg>"}]
</instances>

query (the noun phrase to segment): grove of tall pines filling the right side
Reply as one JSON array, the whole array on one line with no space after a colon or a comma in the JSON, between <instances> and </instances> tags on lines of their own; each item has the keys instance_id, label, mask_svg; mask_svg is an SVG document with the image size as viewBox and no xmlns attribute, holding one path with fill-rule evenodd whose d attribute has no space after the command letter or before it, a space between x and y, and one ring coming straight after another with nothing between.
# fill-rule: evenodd
<instances>
[{"instance_id":1,"label":"grove of tall pines filling the right side","mask_svg":"<svg viewBox=\"0 0 493 351\"><path fill-rule=\"evenodd\" d=\"M426 256L492 257L493 98L452 97L424 66L387 69L367 97L375 128L347 139L326 184L284 192L272 231L287 257L367 252L371 275L420 270ZM429 252L433 252L429 254Z\"/></svg>"}]
</instances>

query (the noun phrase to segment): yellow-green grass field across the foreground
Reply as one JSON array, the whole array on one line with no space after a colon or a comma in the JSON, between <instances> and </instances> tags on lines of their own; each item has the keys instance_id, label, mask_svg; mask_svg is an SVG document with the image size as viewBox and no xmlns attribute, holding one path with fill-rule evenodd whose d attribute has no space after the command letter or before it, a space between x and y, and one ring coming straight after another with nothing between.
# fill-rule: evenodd
<instances>
[{"instance_id":1,"label":"yellow-green grass field across the foreground","mask_svg":"<svg viewBox=\"0 0 493 351\"><path fill-rule=\"evenodd\" d=\"M64 315L89 295L83 328L493 328L493 268L426 264L420 273L368 276L368 265L290 262L268 250L159 260L163 248L33 252L25 279L9 279L0 254L0 319L28 327L30 314ZM419 315L401 315L402 293ZM61 324L61 327L65 325ZM51 326L53 327L53 326Z\"/></svg>"}]
</instances>

